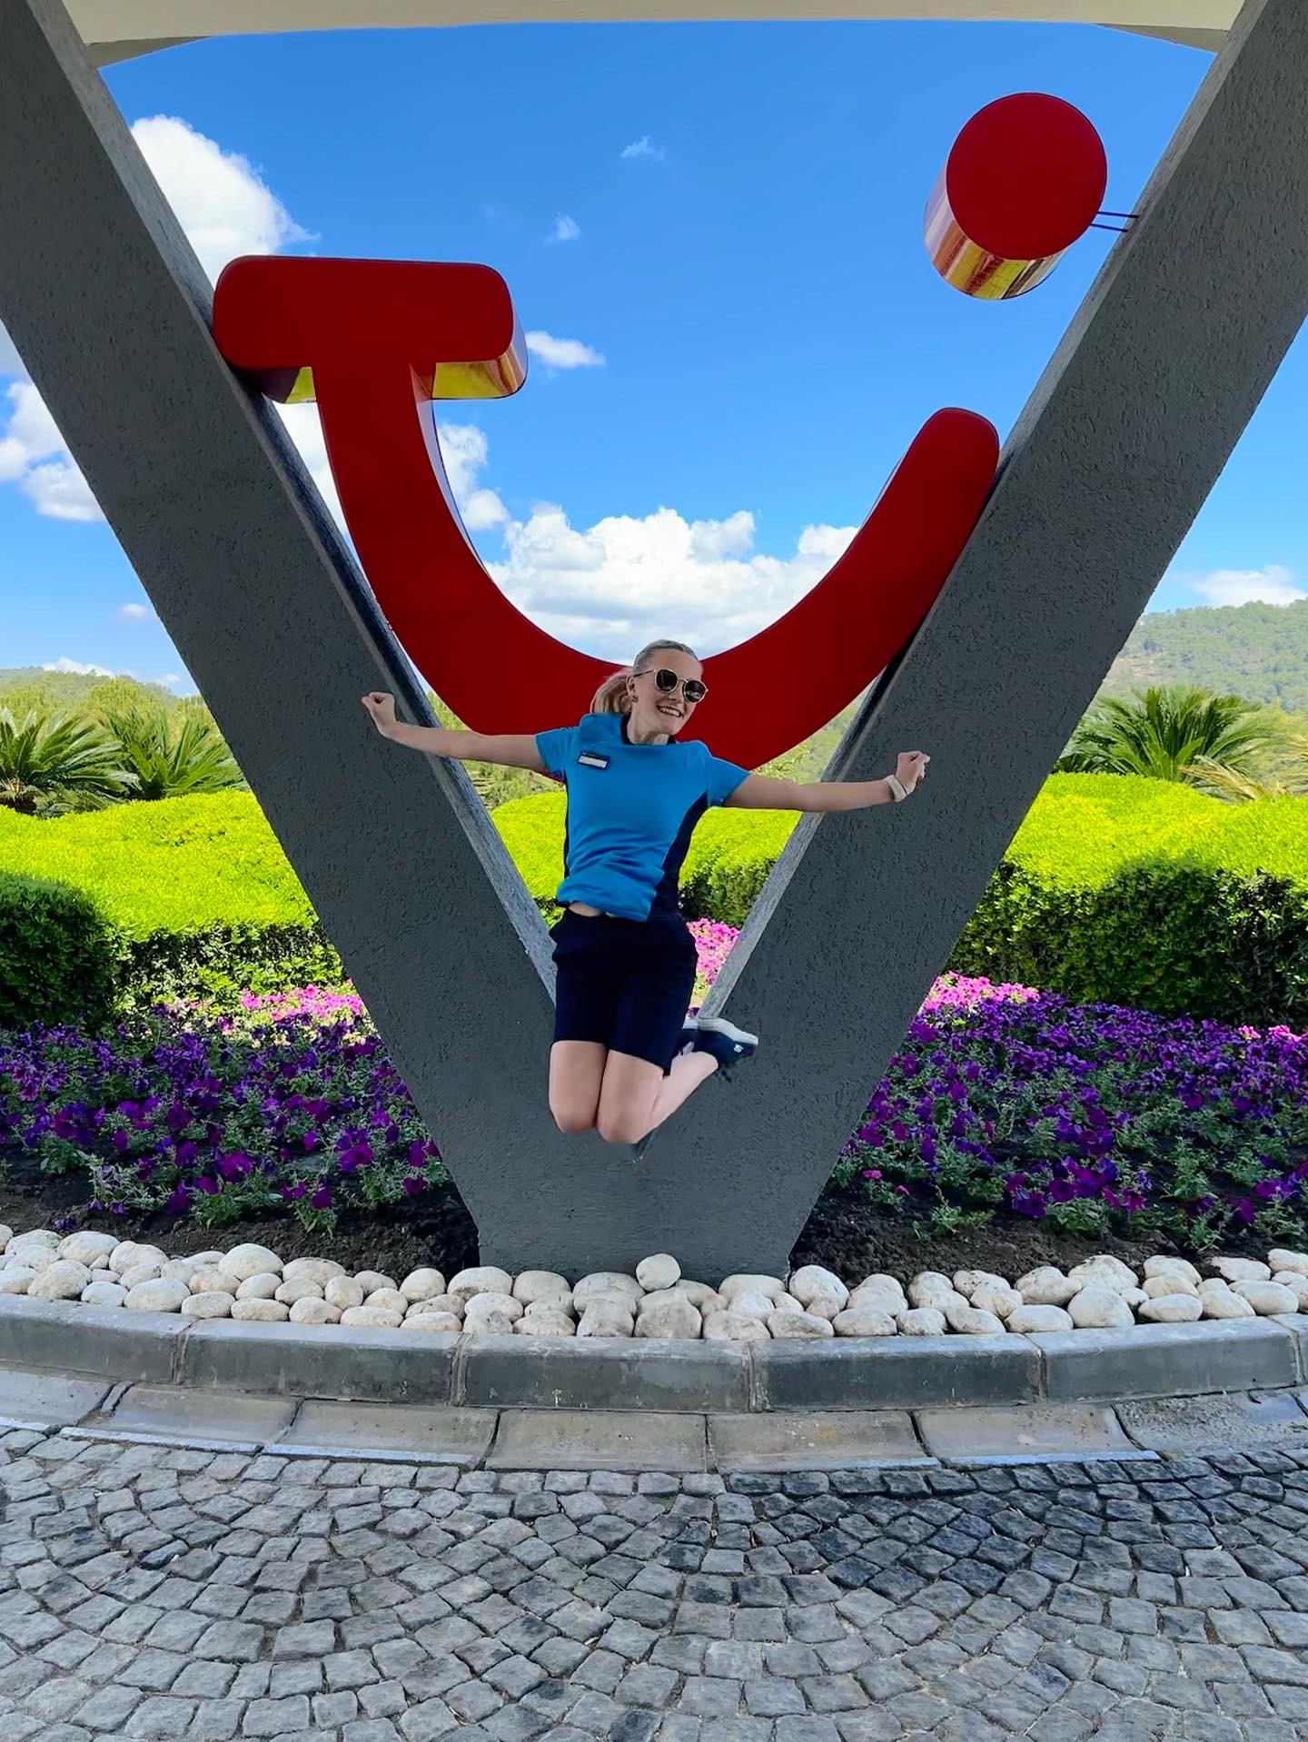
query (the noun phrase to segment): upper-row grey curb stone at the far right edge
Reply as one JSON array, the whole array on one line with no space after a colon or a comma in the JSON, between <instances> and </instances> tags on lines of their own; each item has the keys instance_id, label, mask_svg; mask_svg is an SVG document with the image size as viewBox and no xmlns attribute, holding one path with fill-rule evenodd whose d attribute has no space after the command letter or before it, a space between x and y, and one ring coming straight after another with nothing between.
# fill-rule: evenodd
<instances>
[{"instance_id":1,"label":"upper-row grey curb stone at the far right edge","mask_svg":"<svg viewBox=\"0 0 1308 1742\"><path fill-rule=\"evenodd\" d=\"M1045 1395L1054 1402L1278 1390L1298 1378L1296 1340L1270 1319L1047 1331L1031 1341L1043 1355Z\"/></svg>"}]
</instances>

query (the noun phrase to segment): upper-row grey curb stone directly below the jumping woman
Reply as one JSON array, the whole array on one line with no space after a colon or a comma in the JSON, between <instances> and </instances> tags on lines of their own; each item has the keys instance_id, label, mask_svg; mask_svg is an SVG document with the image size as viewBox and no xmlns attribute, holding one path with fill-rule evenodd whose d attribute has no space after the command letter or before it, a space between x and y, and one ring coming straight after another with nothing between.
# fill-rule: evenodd
<instances>
[{"instance_id":1,"label":"upper-row grey curb stone directly below the jumping woman","mask_svg":"<svg viewBox=\"0 0 1308 1742\"><path fill-rule=\"evenodd\" d=\"M730 1343L470 1336L460 1404L524 1409L745 1411L749 1361Z\"/></svg>"}]
</instances>

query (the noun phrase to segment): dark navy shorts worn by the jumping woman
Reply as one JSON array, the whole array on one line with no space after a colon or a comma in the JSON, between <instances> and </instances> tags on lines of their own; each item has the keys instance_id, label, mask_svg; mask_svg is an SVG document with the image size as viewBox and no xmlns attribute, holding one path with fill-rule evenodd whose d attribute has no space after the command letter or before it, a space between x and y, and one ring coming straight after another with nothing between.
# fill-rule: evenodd
<instances>
[{"instance_id":1,"label":"dark navy shorts worn by the jumping woman","mask_svg":"<svg viewBox=\"0 0 1308 1742\"><path fill-rule=\"evenodd\" d=\"M667 1071L681 1045L698 956L679 913L573 913L554 925L556 1040L594 1040Z\"/></svg>"}]
</instances>

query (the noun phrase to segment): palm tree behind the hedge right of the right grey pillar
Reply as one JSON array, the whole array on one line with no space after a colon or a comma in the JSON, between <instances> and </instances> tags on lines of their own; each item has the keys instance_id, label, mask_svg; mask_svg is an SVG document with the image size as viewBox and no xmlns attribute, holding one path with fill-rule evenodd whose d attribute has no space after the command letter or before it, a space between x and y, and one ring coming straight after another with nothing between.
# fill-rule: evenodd
<instances>
[{"instance_id":1,"label":"palm tree behind the hedge right of the right grey pillar","mask_svg":"<svg viewBox=\"0 0 1308 1742\"><path fill-rule=\"evenodd\" d=\"M1285 732L1268 709L1238 695L1155 685L1129 700L1092 702L1055 773L1136 773L1210 787L1214 770L1257 779Z\"/></svg>"}]
</instances>

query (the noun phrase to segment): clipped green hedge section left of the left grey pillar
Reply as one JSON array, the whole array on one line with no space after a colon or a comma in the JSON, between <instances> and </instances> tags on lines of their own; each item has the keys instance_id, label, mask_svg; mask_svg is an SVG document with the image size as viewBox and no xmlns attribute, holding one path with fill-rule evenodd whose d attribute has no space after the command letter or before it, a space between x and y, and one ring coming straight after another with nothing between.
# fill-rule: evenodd
<instances>
[{"instance_id":1,"label":"clipped green hedge section left of the left grey pillar","mask_svg":"<svg viewBox=\"0 0 1308 1742\"><path fill-rule=\"evenodd\" d=\"M110 1002L230 1002L244 986L273 991L343 977L249 793L45 820L0 807L0 871L9 873L0 883L3 1026L78 1009L96 1019ZM40 918L33 878L47 890ZM63 890L66 911L51 888Z\"/></svg>"}]
</instances>

